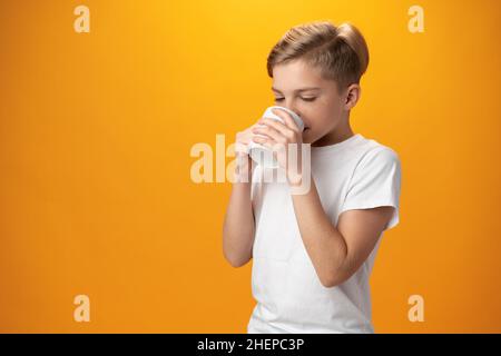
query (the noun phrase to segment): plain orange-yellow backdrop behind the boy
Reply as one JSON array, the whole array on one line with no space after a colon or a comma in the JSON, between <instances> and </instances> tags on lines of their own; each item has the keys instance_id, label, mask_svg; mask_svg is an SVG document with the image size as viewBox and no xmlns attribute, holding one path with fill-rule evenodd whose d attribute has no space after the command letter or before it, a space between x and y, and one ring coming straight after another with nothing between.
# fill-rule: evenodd
<instances>
[{"instance_id":1,"label":"plain orange-yellow backdrop behind the boy","mask_svg":"<svg viewBox=\"0 0 501 356\"><path fill-rule=\"evenodd\" d=\"M73 31L80 3L90 33ZM407 30L413 4L424 33ZM0 332L245 333L250 264L232 268L220 244L230 184L194 184L189 150L255 122L273 103L268 51L313 20L364 33L352 126L402 161L401 224L372 276L376 332L501 332L500 10L2 1ZM407 319L413 294L424 323Z\"/></svg>"}]
</instances>

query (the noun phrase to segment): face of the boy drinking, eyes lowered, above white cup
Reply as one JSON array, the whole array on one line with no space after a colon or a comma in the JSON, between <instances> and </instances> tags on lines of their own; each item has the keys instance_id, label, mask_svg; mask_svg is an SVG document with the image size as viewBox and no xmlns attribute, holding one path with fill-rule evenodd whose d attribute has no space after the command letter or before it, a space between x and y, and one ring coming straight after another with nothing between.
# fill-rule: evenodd
<instances>
[{"instance_id":1,"label":"face of the boy drinking, eyes lowered, above white cup","mask_svg":"<svg viewBox=\"0 0 501 356\"><path fill-rule=\"evenodd\" d=\"M305 144L313 144L347 122L345 93L338 92L334 80L323 79L317 69L307 67L301 59L273 68L272 90L275 105L293 110L303 119Z\"/></svg>"}]
</instances>

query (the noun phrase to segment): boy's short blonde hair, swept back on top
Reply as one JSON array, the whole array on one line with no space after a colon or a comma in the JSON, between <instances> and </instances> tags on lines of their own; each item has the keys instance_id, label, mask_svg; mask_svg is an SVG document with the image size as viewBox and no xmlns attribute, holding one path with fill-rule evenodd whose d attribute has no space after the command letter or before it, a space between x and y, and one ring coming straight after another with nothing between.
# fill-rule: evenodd
<instances>
[{"instance_id":1,"label":"boy's short blonde hair, swept back on top","mask_svg":"<svg viewBox=\"0 0 501 356\"><path fill-rule=\"evenodd\" d=\"M268 76L273 78L276 65L299 58L318 68L325 79L335 80L342 90L360 83L367 69L369 49L362 33L350 23L337 27L328 21L298 24L289 29L269 52Z\"/></svg>"}]
</instances>

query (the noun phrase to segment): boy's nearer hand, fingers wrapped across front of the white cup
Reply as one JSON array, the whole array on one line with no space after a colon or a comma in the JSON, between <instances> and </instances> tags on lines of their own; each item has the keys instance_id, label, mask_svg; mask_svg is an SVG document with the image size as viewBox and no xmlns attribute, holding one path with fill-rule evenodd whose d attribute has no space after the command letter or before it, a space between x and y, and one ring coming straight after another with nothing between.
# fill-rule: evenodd
<instances>
[{"instance_id":1,"label":"boy's nearer hand, fingers wrapped across front of the white cup","mask_svg":"<svg viewBox=\"0 0 501 356\"><path fill-rule=\"evenodd\" d=\"M284 122L271 118L262 118L257 123L265 127L254 127L253 134L265 137L254 136L253 141L271 149L278 161L281 168L285 169L289 185L299 185L302 180L302 145L303 132L297 127L288 112L281 109L273 109L273 113L279 116ZM295 144L295 145L292 145ZM294 165L293 159L296 164ZM295 166L295 167L294 167Z\"/></svg>"}]
</instances>

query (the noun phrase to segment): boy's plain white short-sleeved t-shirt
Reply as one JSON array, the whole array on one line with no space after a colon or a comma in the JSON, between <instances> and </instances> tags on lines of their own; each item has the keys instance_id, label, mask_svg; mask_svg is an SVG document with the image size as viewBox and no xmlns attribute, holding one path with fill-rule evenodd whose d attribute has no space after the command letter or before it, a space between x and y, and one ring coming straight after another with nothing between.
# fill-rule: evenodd
<instances>
[{"instance_id":1,"label":"boy's plain white short-sleeved t-shirt","mask_svg":"<svg viewBox=\"0 0 501 356\"><path fill-rule=\"evenodd\" d=\"M386 229L399 222L401 166L395 151L356 134L311 147L311 168L322 206L337 225L350 209L393 206ZM252 291L257 304L248 333L374 333L369 276L381 236L369 258L343 284L324 287L301 238L289 186L253 172L256 221Z\"/></svg>"}]
</instances>

